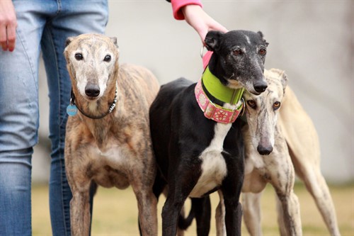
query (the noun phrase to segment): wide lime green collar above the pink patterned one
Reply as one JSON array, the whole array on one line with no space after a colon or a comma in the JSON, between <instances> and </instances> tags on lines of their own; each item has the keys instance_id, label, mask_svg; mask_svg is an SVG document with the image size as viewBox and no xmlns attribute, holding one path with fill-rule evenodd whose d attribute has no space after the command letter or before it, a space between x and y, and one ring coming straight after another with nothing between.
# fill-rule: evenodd
<instances>
[{"instance_id":1,"label":"wide lime green collar above the pink patterned one","mask_svg":"<svg viewBox=\"0 0 354 236\"><path fill-rule=\"evenodd\" d=\"M202 83L205 89L215 97L224 103L236 104L240 101L244 88L231 89L228 86L224 86L207 67L202 74Z\"/></svg>"}]
</instances>

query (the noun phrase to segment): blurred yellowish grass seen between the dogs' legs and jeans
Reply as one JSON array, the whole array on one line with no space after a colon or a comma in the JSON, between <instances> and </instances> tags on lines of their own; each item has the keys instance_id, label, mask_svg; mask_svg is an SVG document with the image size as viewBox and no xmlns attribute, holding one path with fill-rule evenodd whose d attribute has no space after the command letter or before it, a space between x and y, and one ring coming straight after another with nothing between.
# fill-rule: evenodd
<instances>
[{"instance_id":1,"label":"blurred yellowish grass seen between the dogs' legs and jeans","mask_svg":"<svg viewBox=\"0 0 354 236\"><path fill-rule=\"evenodd\" d=\"M334 205L336 206L338 225L342 235L354 236L354 186L331 186ZM302 217L302 230L304 235L329 235L324 221L317 210L312 196L302 184L295 186L295 193L299 197ZM264 235L279 235L276 223L275 196L271 186L267 186L262 197L262 227ZM159 201L158 215L165 198ZM212 194L212 228L210 235L215 235L215 208L219 199L217 193ZM32 214L33 235L52 235L50 227L49 200L47 186L33 186ZM189 201L187 201L189 209ZM248 235L244 225L243 235ZM132 189L103 189L99 188L93 203L93 236L127 236L139 235L137 227L137 203ZM161 217L159 218L159 235L161 235ZM195 234L195 223L185 233Z\"/></svg>"}]
</instances>

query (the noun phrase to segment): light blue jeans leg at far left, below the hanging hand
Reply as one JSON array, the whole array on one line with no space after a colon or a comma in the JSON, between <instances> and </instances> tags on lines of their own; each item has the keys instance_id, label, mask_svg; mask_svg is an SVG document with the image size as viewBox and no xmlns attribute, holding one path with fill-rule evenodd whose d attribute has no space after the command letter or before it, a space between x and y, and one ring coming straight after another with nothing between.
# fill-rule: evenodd
<instances>
[{"instance_id":1,"label":"light blue jeans leg at far left, below the hanging hand","mask_svg":"<svg viewBox=\"0 0 354 236\"><path fill-rule=\"evenodd\" d=\"M39 125L43 22L23 10L16 7L15 50L0 50L0 235L11 236L31 235L31 155Z\"/></svg>"}]
</instances>

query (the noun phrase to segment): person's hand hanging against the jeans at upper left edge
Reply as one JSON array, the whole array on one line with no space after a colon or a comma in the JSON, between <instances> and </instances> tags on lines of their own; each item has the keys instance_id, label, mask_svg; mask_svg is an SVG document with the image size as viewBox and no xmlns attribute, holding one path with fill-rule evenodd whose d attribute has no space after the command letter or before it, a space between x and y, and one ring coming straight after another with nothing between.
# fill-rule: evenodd
<instances>
[{"instance_id":1,"label":"person's hand hanging against the jeans at upper left edge","mask_svg":"<svg viewBox=\"0 0 354 236\"><path fill-rule=\"evenodd\" d=\"M15 49L17 19L11 0L0 0L0 45L2 50Z\"/></svg>"}]
</instances>

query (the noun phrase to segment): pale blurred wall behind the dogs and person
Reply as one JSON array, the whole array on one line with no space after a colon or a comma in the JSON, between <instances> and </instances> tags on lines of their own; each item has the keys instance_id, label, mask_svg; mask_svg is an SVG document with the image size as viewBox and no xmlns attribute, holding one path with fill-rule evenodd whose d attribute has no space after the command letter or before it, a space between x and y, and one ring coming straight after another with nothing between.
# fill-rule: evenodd
<instances>
[{"instance_id":1,"label":"pale blurred wall behind the dogs and person","mask_svg":"<svg viewBox=\"0 0 354 236\"><path fill-rule=\"evenodd\" d=\"M108 1L106 35L118 38L120 62L141 64L161 84L178 77L197 81L201 41L176 21L164 0ZM265 68L284 69L289 85L314 121L321 169L330 183L354 179L354 1L202 1L229 30L261 30L270 43ZM48 97L40 69L40 143L33 154L33 181L47 182L50 169Z\"/></svg>"}]
</instances>

